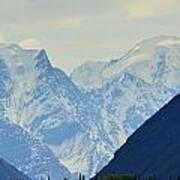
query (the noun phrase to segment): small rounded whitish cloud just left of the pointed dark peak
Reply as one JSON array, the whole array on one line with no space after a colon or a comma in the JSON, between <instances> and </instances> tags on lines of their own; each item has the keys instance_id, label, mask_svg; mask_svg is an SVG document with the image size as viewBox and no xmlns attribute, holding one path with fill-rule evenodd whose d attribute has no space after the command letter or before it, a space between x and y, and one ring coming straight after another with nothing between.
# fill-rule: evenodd
<instances>
[{"instance_id":1,"label":"small rounded whitish cloud just left of the pointed dark peak","mask_svg":"<svg viewBox=\"0 0 180 180\"><path fill-rule=\"evenodd\" d=\"M41 43L37 39L24 39L19 43L24 49L40 49Z\"/></svg>"}]
</instances>

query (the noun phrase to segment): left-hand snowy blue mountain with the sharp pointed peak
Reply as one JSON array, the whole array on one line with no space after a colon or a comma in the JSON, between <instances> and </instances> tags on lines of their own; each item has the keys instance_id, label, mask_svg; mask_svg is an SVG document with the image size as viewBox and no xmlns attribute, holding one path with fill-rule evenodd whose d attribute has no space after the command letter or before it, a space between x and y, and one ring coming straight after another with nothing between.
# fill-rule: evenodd
<instances>
[{"instance_id":1,"label":"left-hand snowy blue mountain with the sharp pointed peak","mask_svg":"<svg viewBox=\"0 0 180 180\"><path fill-rule=\"evenodd\" d=\"M0 47L1 118L48 145L72 173L90 174L95 151L87 98L44 50Z\"/></svg>"}]
</instances>

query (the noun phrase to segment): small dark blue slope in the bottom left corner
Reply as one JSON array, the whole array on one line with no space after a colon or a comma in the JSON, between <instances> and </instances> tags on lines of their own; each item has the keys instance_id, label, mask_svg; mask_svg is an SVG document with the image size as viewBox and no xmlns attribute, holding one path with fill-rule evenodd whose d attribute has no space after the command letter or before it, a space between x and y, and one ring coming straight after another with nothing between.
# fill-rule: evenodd
<instances>
[{"instance_id":1,"label":"small dark blue slope in the bottom left corner","mask_svg":"<svg viewBox=\"0 0 180 180\"><path fill-rule=\"evenodd\" d=\"M8 164L3 159L0 159L0 178L3 180L18 179L18 180L30 180L23 173L18 171L15 167Z\"/></svg>"}]
</instances>

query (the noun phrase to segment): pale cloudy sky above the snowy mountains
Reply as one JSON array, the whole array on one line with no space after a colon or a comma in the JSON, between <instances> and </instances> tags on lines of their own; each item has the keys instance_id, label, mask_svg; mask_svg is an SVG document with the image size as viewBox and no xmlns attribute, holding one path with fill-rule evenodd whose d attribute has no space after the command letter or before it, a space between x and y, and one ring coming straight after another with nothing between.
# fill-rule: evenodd
<instances>
[{"instance_id":1,"label":"pale cloudy sky above the snowy mountains","mask_svg":"<svg viewBox=\"0 0 180 180\"><path fill-rule=\"evenodd\" d=\"M0 0L0 42L46 49L68 74L159 35L180 36L180 0Z\"/></svg>"}]
</instances>

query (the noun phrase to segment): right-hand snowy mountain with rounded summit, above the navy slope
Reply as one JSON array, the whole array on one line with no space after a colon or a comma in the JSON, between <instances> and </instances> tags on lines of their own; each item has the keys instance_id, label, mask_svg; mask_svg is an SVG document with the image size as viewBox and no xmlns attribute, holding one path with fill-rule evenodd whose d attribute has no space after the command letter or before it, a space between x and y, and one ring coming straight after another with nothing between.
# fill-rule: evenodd
<instances>
[{"instance_id":1,"label":"right-hand snowy mountain with rounded summit, above the navy slope","mask_svg":"<svg viewBox=\"0 0 180 180\"><path fill-rule=\"evenodd\" d=\"M97 169L112 157L118 144L122 145L146 119L180 92L179 62L180 38L162 36L144 40L124 57L103 65L99 77L89 76L86 65L81 66L85 69L80 68L80 74L87 72L83 77L90 78L86 82L93 82L94 78L91 87L87 87L84 78L76 81L73 77L80 74L78 69L74 71L72 80L86 92L95 112L94 123L99 127L91 131L97 152L98 147L104 149L95 163Z\"/></svg>"}]
</instances>

